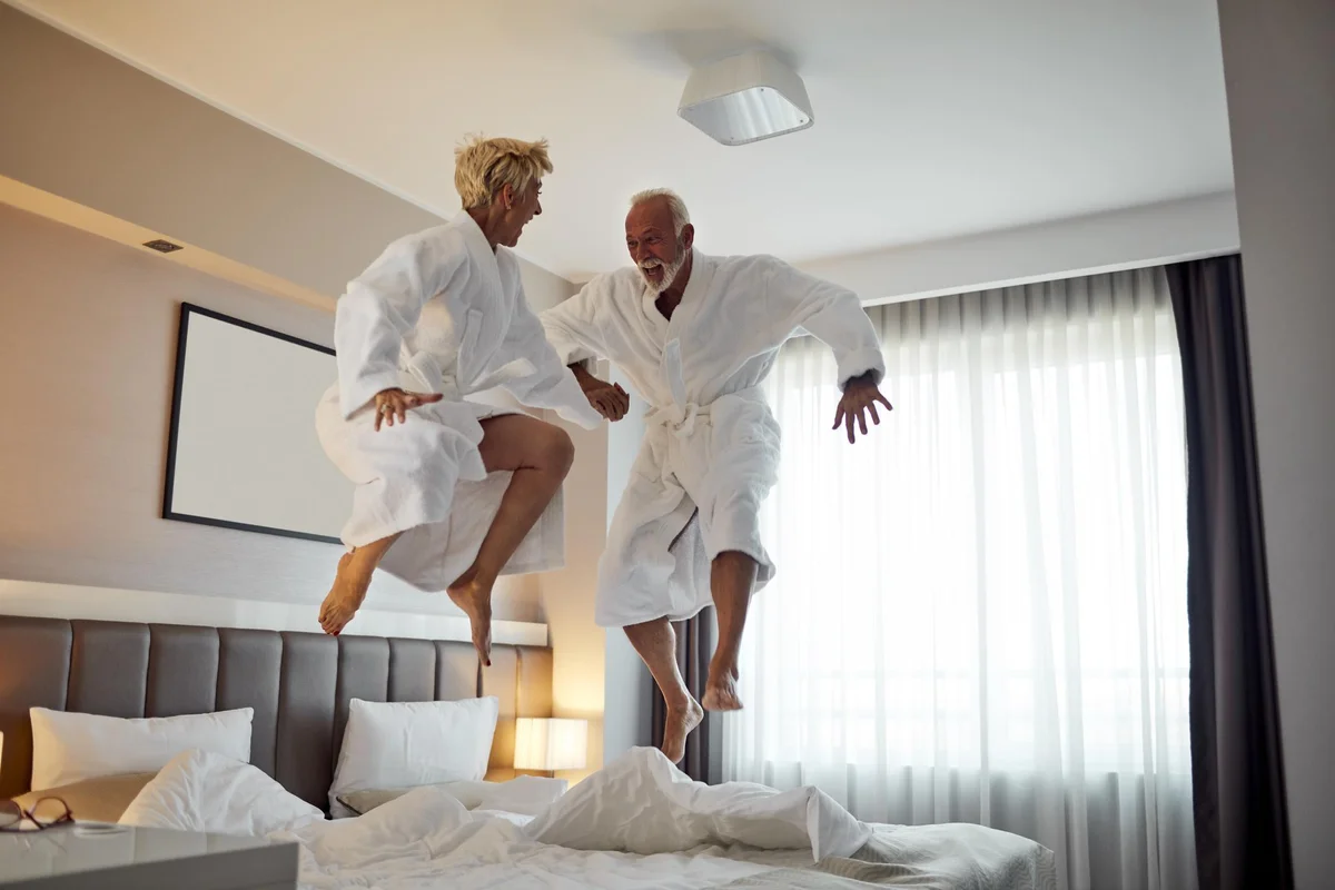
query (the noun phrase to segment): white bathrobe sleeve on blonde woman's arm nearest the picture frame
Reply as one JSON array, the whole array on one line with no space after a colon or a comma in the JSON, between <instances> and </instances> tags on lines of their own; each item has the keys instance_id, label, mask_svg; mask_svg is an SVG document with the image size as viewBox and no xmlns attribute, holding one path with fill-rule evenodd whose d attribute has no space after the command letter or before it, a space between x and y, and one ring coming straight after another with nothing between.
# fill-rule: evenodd
<instances>
[{"instance_id":1,"label":"white bathrobe sleeve on blonde woman's arm nearest the picture frame","mask_svg":"<svg viewBox=\"0 0 1335 890\"><path fill-rule=\"evenodd\" d=\"M422 307L467 263L450 232L399 239L348 283L334 314L339 407L348 418L375 394L399 386L399 350Z\"/></svg>"}]
</instances>

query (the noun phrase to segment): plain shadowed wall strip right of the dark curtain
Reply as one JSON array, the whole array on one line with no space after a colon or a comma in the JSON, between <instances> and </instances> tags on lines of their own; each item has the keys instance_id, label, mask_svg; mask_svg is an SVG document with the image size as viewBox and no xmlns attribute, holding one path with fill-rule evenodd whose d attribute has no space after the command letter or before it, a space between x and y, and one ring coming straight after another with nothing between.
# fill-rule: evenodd
<instances>
[{"instance_id":1,"label":"plain shadowed wall strip right of the dark curtain","mask_svg":"<svg viewBox=\"0 0 1335 890\"><path fill-rule=\"evenodd\" d=\"M1335 3L1220 0L1296 885L1335 770Z\"/></svg>"}]
</instances>

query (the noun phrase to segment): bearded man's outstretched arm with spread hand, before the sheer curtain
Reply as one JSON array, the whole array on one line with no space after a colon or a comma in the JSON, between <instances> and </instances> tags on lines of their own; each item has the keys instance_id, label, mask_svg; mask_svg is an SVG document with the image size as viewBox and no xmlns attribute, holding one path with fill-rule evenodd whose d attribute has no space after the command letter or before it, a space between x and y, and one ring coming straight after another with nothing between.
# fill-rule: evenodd
<instances>
[{"instance_id":1,"label":"bearded man's outstretched arm with spread hand, before the sheer curtain","mask_svg":"<svg viewBox=\"0 0 1335 890\"><path fill-rule=\"evenodd\" d=\"M834 352L838 363L836 382L844 395L834 412L833 428L842 426L852 443L856 439L854 420L862 435L868 432L866 414L872 415L873 424L880 424L876 403L886 411L893 410L880 390L885 358L876 328L857 295L848 288L800 272L780 260L769 260L766 266L765 294L780 334L786 336L805 330Z\"/></svg>"}]
</instances>

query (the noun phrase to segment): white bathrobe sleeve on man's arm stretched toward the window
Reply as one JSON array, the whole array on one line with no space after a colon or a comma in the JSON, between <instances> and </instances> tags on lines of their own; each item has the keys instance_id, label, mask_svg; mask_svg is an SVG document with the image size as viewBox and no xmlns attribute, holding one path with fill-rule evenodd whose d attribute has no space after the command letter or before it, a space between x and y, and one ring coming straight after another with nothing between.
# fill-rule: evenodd
<instances>
[{"instance_id":1,"label":"white bathrobe sleeve on man's arm stretched toward the window","mask_svg":"<svg viewBox=\"0 0 1335 890\"><path fill-rule=\"evenodd\" d=\"M766 306L778 339L806 331L834 351L838 387L868 371L880 384L885 376L881 340L857 295L848 288L801 272L772 256L758 258Z\"/></svg>"}]
</instances>

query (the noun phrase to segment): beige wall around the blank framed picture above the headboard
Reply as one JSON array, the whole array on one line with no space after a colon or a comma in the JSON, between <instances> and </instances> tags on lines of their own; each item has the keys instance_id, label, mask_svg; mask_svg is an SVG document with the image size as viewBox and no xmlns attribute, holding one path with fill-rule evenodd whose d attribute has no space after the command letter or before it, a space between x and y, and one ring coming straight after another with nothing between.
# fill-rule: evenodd
<instances>
[{"instance_id":1,"label":"beige wall around the blank framed picture above the headboard","mask_svg":"<svg viewBox=\"0 0 1335 890\"><path fill-rule=\"evenodd\" d=\"M332 316L5 205L0 270L0 578L308 602L314 622L338 546L159 514L179 302L326 344ZM367 604L457 611L392 578ZM537 576L502 580L497 618L542 619Z\"/></svg>"}]
</instances>

